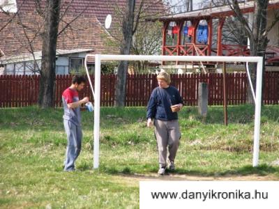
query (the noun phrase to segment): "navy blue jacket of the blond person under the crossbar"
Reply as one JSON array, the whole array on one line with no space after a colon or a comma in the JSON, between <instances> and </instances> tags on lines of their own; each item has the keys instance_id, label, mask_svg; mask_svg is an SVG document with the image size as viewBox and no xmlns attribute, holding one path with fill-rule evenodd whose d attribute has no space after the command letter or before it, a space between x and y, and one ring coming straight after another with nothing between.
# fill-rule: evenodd
<instances>
[{"instance_id":1,"label":"navy blue jacket of the blond person under the crossbar","mask_svg":"<svg viewBox=\"0 0 279 209\"><path fill-rule=\"evenodd\" d=\"M183 104L183 100L174 86L154 88L147 104L146 118L155 118L162 121L177 120L177 113L172 112L170 107L179 103Z\"/></svg>"}]
</instances>

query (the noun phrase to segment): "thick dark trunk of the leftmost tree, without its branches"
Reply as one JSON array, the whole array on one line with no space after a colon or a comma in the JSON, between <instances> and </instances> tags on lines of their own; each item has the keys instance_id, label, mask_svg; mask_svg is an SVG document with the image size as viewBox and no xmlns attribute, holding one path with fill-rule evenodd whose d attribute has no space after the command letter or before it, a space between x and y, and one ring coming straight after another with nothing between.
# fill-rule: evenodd
<instances>
[{"instance_id":1,"label":"thick dark trunk of the leftmost tree, without its branches","mask_svg":"<svg viewBox=\"0 0 279 209\"><path fill-rule=\"evenodd\" d=\"M47 0L46 2L47 13L45 13L38 96L38 105L43 108L54 107L56 42L59 27L60 3L61 0Z\"/></svg>"}]
</instances>

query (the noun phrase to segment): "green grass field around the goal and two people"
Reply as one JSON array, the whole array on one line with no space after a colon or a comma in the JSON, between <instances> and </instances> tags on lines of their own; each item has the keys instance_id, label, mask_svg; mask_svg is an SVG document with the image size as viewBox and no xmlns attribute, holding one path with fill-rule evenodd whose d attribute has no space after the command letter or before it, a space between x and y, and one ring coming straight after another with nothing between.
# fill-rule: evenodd
<instances>
[{"instance_id":1,"label":"green grass field around the goal and two people","mask_svg":"<svg viewBox=\"0 0 279 209\"><path fill-rule=\"evenodd\" d=\"M82 113L84 139L77 171L63 172L66 134L62 109L0 109L0 208L139 208L139 180L159 178L153 129L146 109L103 107L100 112L100 168L93 164L93 114ZM206 120L195 107L179 114L181 176L279 179L279 106L262 109L259 167L252 164L254 108L210 107ZM164 179L164 178L163 178Z\"/></svg>"}]
</instances>

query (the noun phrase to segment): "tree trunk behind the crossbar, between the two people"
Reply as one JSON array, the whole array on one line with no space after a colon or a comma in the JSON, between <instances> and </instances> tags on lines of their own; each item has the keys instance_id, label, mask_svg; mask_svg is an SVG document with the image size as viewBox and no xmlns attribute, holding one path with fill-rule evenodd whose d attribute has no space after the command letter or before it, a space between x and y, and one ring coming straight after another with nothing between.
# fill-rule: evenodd
<instances>
[{"instance_id":1,"label":"tree trunk behind the crossbar, between the two people","mask_svg":"<svg viewBox=\"0 0 279 209\"><path fill-rule=\"evenodd\" d=\"M123 17L123 40L120 54L130 54L133 40L135 0L126 0L126 13ZM128 61L121 61L117 71L115 86L114 106L124 107L126 102L126 77L128 72Z\"/></svg>"}]
</instances>

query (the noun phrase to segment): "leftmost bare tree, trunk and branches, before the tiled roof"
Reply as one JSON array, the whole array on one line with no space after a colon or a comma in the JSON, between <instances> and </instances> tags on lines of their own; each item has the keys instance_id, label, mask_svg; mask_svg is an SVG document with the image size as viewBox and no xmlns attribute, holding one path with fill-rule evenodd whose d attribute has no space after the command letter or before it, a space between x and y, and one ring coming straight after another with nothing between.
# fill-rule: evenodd
<instances>
[{"instance_id":1,"label":"leftmost bare tree, trunk and branches, before the tiled roof","mask_svg":"<svg viewBox=\"0 0 279 209\"><path fill-rule=\"evenodd\" d=\"M54 107L54 85L56 74L56 44L57 38L66 33L67 29L71 29L71 24L82 15L84 8L80 13L77 13L75 17L64 20L67 11L72 6L74 0L63 1L61 0L47 0L47 1L34 1L35 13L32 15L25 15L21 13L22 4L17 6L16 13L9 13L1 8L1 12L8 17L6 24L1 26L1 30L7 26L15 27L20 26L20 30L23 32L17 34L18 30L13 31L13 37L19 43L20 47L17 53L29 52L33 56L33 68L24 62L24 68L29 68L35 74L39 72L40 77L40 89L38 95L38 105L40 107ZM60 13L61 7L63 7L63 13ZM33 18L33 20L30 20ZM30 24L32 22L32 24ZM63 27L59 31L59 22L63 23ZM16 26L17 25L17 26ZM70 38L70 37L67 37ZM42 47L38 49L36 42L40 42ZM36 51L42 50L41 65L36 60Z\"/></svg>"}]
</instances>

